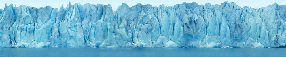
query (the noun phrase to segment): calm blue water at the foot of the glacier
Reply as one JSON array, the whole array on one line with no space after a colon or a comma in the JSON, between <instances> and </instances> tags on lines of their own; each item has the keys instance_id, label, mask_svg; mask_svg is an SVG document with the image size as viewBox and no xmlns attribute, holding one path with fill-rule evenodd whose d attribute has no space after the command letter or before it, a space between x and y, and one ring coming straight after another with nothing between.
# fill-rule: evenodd
<instances>
[{"instance_id":1,"label":"calm blue water at the foot of the glacier","mask_svg":"<svg viewBox=\"0 0 286 57\"><path fill-rule=\"evenodd\" d=\"M0 57L286 57L286 48L0 48Z\"/></svg>"}]
</instances>

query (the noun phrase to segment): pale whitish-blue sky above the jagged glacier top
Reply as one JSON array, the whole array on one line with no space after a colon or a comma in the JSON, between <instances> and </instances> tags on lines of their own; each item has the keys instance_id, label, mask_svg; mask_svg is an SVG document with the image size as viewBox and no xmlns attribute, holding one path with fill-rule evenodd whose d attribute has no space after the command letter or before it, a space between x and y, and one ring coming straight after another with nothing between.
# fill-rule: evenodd
<instances>
[{"instance_id":1,"label":"pale whitish-blue sky above the jagged glacier top","mask_svg":"<svg viewBox=\"0 0 286 57\"><path fill-rule=\"evenodd\" d=\"M165 6L174 6L175 4L182 4L183 2L192 3L196 2L199 5L205 5L206 3L211 3L213 5L215 4L221 4L224 1L228 2L234 2L240 7L243 6L249 6L251 8L261 8L266 7L270 4L277 3L278 5L286 5L286 0L3 0L0 2L0 8L4 9L5 3L9 4L16 4L17 7L19 5L27 5L31 7L46 7L50 5L53 8L60 8L61 5L64 5L64 7L67 6L69 2L71 4L74 4L76 2L81 3L81 5L84 5L85 3L90 4L110 4L112 6L112 10L115 11L118 6L120 6L122 3L126 3L129 7L132 7L133 5L137 3L141 3L143 5L145 4L151 4L153 6L159 6L164 4Z\"/></svg>"}]
</instances>

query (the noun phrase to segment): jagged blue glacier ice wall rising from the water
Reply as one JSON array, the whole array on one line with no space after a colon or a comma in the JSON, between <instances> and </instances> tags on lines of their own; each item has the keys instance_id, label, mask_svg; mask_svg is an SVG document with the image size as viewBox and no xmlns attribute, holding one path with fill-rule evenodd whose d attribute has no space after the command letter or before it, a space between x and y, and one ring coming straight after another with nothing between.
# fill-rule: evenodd
<instances>
[{"instance_id":1,"label":"jagged blue glacier ice wall rising from the water","mask_svg":"<svg viewBox=\"0 0 286 57\"><path fill-rule=\"evenodd\" d=\"M262 8L196 2L174 6L67 4L0 9L1 48L199 47L286 45L286 5Z\"/></svg>"}]
</instances>

